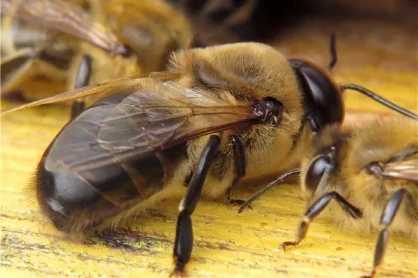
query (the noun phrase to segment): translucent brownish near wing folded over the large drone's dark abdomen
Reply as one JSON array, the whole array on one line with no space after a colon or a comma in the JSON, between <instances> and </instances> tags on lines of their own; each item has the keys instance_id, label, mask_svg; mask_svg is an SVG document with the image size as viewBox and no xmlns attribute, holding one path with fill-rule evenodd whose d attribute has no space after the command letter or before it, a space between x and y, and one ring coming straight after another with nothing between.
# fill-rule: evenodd
<instances>
[{"instance_id":1,"label":"translucent brownish near wing folded over the large drone's dark abdomen","mask_svg":"<svg viewBox=\"0 0 418 278\"><path fill-rule=\"evenodd\" d=\"M227 104L172 81L152 81L71 122L54 142L47 169L82 172L126 163L256 119L251 106Z\"/></svg>"}]
</instances>

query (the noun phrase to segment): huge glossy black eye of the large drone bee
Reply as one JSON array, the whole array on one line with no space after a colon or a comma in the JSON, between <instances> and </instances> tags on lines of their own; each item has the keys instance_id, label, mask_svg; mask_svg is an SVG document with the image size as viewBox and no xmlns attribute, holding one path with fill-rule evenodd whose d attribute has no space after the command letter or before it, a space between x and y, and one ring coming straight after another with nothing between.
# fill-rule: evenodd
<instances>
[{"instance_id":1,"label":"huge glossy black eye of the large drone bee","mask_svg":"<svg viewBox=\"0 0 418 278\"><path fill-rule=\"evenodd\" d=\"M318 133L325 124L343 122L344 104L341 90L324 70L302 60L291 59L302 92L311 125Z\"/></svg>"}]
</instances>

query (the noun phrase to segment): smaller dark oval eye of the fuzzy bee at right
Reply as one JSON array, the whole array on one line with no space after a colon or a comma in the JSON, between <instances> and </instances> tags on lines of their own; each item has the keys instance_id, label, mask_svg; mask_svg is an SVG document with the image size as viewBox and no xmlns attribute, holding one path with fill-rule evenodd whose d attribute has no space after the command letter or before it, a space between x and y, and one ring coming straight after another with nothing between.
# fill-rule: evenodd
<instances>
[{"instance_id":1,"label":"smaller dark oval eye of the fuzzy bee at right","mask_svg":"<svg viewBox=\"0 0 418 278\"><path fill-rule=\"evenodd\" d=\"M332 168L332 158L327 154L316 156L309 164L305 177L305 187L315 193L325 170Z\"/></svg>"}]
</instances>

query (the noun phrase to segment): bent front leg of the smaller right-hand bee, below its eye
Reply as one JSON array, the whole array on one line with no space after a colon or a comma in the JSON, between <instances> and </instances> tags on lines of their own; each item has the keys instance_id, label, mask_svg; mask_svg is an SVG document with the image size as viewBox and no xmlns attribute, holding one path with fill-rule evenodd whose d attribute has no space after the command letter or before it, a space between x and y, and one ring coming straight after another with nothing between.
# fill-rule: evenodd
<instances>
[{"instance_id":1,"label":"bent front leg of the smaller right-hand bee, below its eye","mask_svg":"<svg viewBox=\"0 0 418 278\"><path fill-rule=\"evenodd\" d=\"M302 218L299 229L297 231L297 240L285 241L281 244L281 247L283 247L284 250L286 250L286 247L288 246L298 245L300 241L305 238L309 228L309 222L314 220L314 218L316 218L316 216L324 210L327 204L330 203L331 199L335 199L341 208L343 208L343 210L346 211L352 218L362 218L362 211L347 202L347 200L339 195L339 193L336 193L336 191L326 193L307 209L307 212L304 214L304 217Z\"/></svg>"}]
</instances>

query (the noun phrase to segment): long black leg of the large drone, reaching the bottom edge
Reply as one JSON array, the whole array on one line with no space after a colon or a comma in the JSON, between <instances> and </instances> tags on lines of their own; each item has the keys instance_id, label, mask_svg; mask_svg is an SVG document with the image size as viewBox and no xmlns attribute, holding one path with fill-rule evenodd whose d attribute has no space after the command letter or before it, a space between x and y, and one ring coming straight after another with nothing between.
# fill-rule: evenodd
<instances>
[{"instance_id":1,"label":"long black leg of the large drone, reaching the bottom edge","mask_svg":"<svg viewBox=\"0 0 418 278\"><path fill-rule=\"evenodd\" d=\"M206 179L206 174L208 174L210 164L215 159L218 152L219 142L219 136L210 136L200 161L194 169L192 179L190 179L187 194L180 202L176 241L174 242L173 250L176 268L171 272L171 275L183 275L185 264L189 261L190 255L192 254L193 229L190 215L192 215L194 208L196 208L197 201L201 195L203 182Z\"/></svg>"}]
</instances>

